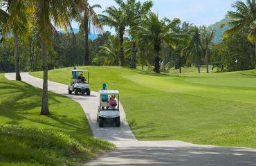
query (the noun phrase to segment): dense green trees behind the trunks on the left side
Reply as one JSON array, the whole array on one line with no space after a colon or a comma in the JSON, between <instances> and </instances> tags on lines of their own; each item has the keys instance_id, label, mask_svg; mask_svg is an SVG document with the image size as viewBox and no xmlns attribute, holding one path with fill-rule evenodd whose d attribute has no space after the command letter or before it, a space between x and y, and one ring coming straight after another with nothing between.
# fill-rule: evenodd
<instances>
[{"instance_id":1,"label":"dense green trees behind the trunks on the left side","mask_svg":"<svg viewBox=\"0 0 256 166\"><path fill-rule=\"evenodd\" d=\"M42 68L41 44L37 41L35 35L28 39L21 39L20 46L20 68L21 71L39 71ZM101 65L93 62L100 50L100 46L107 44L109 32L99 35L94 41L89 39L89 60L92 64ZM67 66L78 66L84 62L84 36L82 33L75 34L75 41L71 35L58 33L53 39L53 47L48 51L48 68L62 68ZM0 72L14 71L14 47L13 39L6 39L1 44Z\"/></svg>"}]
</instances>

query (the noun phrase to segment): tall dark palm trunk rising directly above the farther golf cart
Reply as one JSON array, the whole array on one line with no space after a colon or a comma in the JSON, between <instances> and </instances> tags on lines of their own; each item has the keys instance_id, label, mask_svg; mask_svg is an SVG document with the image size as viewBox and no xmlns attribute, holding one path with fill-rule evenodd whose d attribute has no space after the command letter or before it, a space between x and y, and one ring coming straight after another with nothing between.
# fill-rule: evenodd
<instances>
[{"instance_id":1,"label":"tall dark palm trunk rising directly above the farther golf cart","mask_svg":"<svg viewBox=\"0 0 256 166\"><path fill-rule=\"evenodd\" d=\"M89 65L89 26L88 17L84 14L84 65Z\"/></svg>"}]
</instances>

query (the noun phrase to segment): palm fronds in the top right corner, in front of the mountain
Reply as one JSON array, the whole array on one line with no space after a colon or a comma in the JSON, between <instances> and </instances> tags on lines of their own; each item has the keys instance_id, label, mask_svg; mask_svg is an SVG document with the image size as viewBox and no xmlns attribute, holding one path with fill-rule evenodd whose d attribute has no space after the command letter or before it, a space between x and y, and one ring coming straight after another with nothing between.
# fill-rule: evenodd
<instances>
[{"instance_id":1,"label":"palm fronds in the top right corner, in front of the mountain","mask_svg":"<svg viewBox=\"0 0 256 166\"><path fill-rule=\"evenodd\" d=\"M226 38L243 28L250 27L250 33L248 39L255 44L255 57L256 57L256 3L255 0L236 1L233 5L234 11L228 11L226 17L229 21L223 24L221 27L230 26L228 30L223 33L223 37Z\"/></svg>"}]
</instances>

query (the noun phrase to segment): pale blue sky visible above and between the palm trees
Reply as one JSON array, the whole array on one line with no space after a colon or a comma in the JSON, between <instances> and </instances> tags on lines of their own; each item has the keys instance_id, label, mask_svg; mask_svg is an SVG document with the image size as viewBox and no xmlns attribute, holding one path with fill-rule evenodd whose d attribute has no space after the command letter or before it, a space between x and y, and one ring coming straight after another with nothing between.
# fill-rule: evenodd
<instances>
[{"instance_id":1,"label":"pale blue sky visible above and between the palm trees","mask_svg":"<svg viewBox=\"0 0 256 166\"><path fill-rule=\"evenodd\" d=\"M179 18L182 21L190 21L196 26L209 26L223 19L228 10L232 10L231 5L235 0L153 0L153 2L152 10L157 12L161 18ZM116 6L113 0L89 0L89 3L91 5L99 3L102 6L102 9L96 10L98 13L101 13L107 6ZM73 26L77 28L77 24L73 23ZM104 30L110 29L104 27Z\"/></svg>"}]
</instances>

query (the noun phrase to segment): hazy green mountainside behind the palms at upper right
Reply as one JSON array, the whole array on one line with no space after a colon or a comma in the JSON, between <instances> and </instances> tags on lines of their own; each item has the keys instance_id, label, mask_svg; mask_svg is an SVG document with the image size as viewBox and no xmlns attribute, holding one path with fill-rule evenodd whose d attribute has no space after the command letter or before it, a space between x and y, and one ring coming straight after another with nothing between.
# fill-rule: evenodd
<instances>
[{"instance_id":1,"label":"hazy green mountainside behind the palms at upper right","mask_svg":"<svg viewBox=\"0 0 256 166\"><path fill-rule=\"evenodd\" d=\"M228 19L222 19L221 21L212 24L211 26L208 27L208 29L214 28L215 30L215 37L213 39L214 44L217 44L223 40L222 34L225 30L227 30L229 27L225 26L222 29L220 28L221 24L228 22Z\"/></svg>"}]
</instances>

